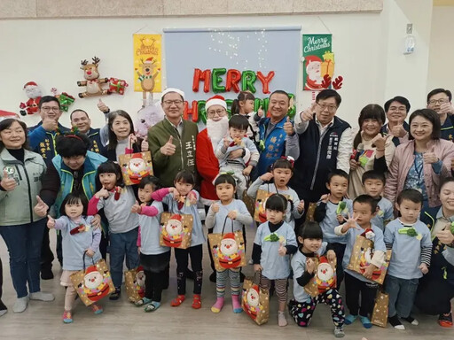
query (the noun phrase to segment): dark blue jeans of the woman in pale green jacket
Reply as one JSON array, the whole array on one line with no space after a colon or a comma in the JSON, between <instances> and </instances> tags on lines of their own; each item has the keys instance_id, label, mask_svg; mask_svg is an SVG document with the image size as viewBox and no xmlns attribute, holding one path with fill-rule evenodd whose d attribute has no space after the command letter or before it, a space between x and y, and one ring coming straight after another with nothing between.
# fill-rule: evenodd
<instances>
[{"instance_id":1,"label":"dark blue jeans of the woman in pale green jacket","mask_svg":"<svg viewBox=\"0 0 454 340\"><path fill-rule=\"evenodd\" d=\"M41 244L47 219L19 226L2 226L0 235L10 253L12 285L18 298L27 297L28 291L40 291L39 272Z\"/></svg>"}]
</instances>

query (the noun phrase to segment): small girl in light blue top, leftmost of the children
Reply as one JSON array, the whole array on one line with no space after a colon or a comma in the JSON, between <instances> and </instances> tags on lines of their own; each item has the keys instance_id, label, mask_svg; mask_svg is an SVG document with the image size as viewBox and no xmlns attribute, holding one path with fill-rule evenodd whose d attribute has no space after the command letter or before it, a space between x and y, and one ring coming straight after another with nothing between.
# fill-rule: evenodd
<instances>
[{"instance_id":1,"label":"small girl in light blue top, leftmost of the children","mask_svg":"<svg viewBox=\"0 0 454 340\"><path fill-rule=\"evenodd\" d=\"M63 312L65 323L73 322L72 310L77 296L71 275L83 269L83 257L90 264L101 259L101 229L91 226L93 216L87 216L87 207L87 198L83 194L69 193L61 204L61 217L54 220L48 216L47 221L47 228L60 230L63 240L63 273L60 284L67 287ZM97 304L90 305L90 308L95 314L103 313L102 307Z\"/></svg>"}]
</instances>

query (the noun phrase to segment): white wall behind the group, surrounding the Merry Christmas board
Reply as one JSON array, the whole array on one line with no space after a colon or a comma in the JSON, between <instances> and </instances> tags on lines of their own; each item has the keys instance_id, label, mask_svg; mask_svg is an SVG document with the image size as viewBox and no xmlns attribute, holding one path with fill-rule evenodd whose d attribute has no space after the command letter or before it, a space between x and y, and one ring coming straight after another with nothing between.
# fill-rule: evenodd
<instances>
[{"instance_id":1,"label":"white wall behind the group, surrounding the Merry Christmas board","mask_svg":"<svg viewBox=\"0 0 454 340\"><path fill-rule=\"evenodd\" d=\"M77 96L81 88L77 87L76 81L82 81L80 61L96 55L102 60L99 66L102 77L114 76L131 84L124 97L104 97L106 104L112 109L124 109L134 116L142 104L141 93L132 91L134 33L157 34L165 27L301 25L303 33L333 34L335 73L344 77L344 86L340 89L343 101L338 114L356 125L358 113L365 104L383 104L388 97L398 94L407 95L416 103L421 95L421 86L424 87L423 92L426 90L426 43L419 44L419 50L414 55L403 58L396 42L397 36L404 35L407 23L405 13L396 13L396 4L415 3L420 3L422 7L415 7L424 9L427 14L421 13L418 19L428 19L430 23L431 13L425 5L426 0L389 0L380 14L0 21L0 74L3 79L0 82L0 109L18 111L20 102L27 100L22 91L27 81L36 81L47 93L51 87L57 87L60 91ZM395 20L398 22L395 23ZM427 27L424 33L427 35ZM285 51L282 58L286 58ZM424 81L421 83L422 78ZM165 78L163 82L165 85ZM302 94L299 91L297 95L299 109L310 104L310 92ZM93 125L99 127L103 119L96 108L97 102L97 97L77 98L70 109L86 110L90 113ZM68 116L68 113L64 113L61 119L64 125L69 125ZM39 118L27 117L26 120L31 124Z\"/></svg>"}]
</instances>

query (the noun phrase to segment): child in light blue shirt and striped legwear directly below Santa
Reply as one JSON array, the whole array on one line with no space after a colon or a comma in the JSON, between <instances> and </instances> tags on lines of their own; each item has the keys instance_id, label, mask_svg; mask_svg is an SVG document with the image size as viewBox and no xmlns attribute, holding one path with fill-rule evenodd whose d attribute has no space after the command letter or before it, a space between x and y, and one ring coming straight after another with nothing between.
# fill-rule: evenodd
<instances>
[{"instance_id":1,"label":"child in light blue shirt and striped legwear directly below Santa","mask_svg":"<svg viewBox=\"0 0 454 340\"><path fill-rule=\"evenodd\" d=\"M244 225L250 225L252 223L252 216L247 211L244 202L235 199L236 182L230 174L219 175L215 179L215 189L219 201L211 205L208 210L207 220L205 220L205 226L207 228L213 228L214 234L221 234L223 233L224 225L227 224L225 226L226 231L234 233L235 231L242 231ZM223 271L216 270L217 298L215 305L211 307L213 313L219 313L223 309L227 277L231 281L231 305L233 307L233 313L241 313L242 308L241 302L239 301L239 268L232 267Z\"/></svg>"}]
</instances>

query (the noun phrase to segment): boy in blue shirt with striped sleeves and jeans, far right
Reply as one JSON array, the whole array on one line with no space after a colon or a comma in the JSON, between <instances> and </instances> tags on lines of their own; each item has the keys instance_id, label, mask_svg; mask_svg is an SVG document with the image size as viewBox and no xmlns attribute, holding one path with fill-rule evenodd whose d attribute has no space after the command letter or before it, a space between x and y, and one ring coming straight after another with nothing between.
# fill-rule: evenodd
<instances>
[{"instance_id":1,"label":"boy in blue shirt with striped sleeves and jeans, far right","mask_svg":"<svg viewBox=\"0 0 454 340\"><path fill-rule=\"evenodd\" d=\"M385 228L387 249L393 250L385 281L389 294L387 320L396 329L405 329L399 318L419 324L410 313L419 279L428 273L432 252L430 230L419 220L423 200L416 189L401 191L395 201L400 217Z\"/></svg>"}]
</instances>

